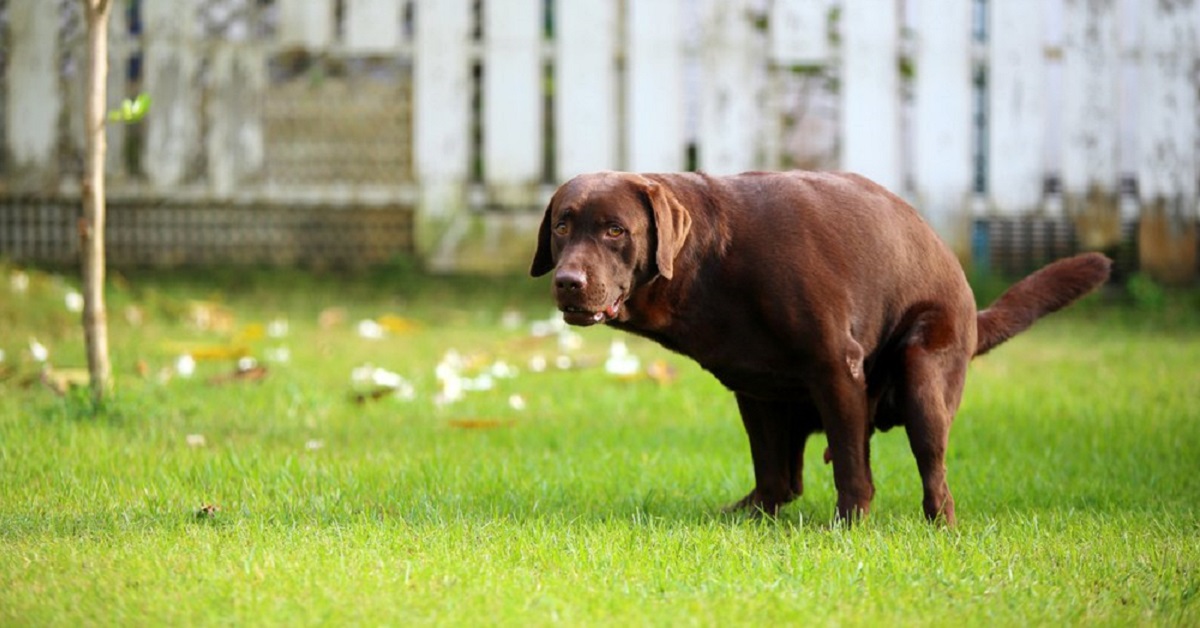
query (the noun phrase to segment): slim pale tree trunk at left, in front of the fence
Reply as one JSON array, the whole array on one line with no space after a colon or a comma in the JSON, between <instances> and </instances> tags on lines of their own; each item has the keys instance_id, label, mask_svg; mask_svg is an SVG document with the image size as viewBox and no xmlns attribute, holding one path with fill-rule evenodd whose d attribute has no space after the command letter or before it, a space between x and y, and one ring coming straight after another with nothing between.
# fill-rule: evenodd
<instances>
[{"instance_id":1,"label":"slim pale tree trunk at left, in front of the fence","mask_svg":"<svg viewBox=\"0 0 1200 628\"><path fill-rule=\"evenodd\" d=\"M108 80L108 16L110 0L83 0L88 17L88 104L84 115L86 155L83 219L79 222L83 264L83 331L92 400L100 403L110 387L108 316L104 309L104 124Z\"/></svg>"}]
</instances>

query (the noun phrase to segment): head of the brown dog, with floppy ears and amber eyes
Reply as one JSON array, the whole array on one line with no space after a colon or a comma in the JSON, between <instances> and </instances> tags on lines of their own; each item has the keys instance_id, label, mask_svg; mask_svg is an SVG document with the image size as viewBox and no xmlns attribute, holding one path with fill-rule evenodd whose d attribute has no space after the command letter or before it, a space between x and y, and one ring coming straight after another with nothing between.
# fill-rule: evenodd
<instances>
[{"instance_id":1,"label":"head of the brown dog, with floppy ears and amber eyes","mask_svg":"<svg viewBox=\"0 0 1200 628\"><path fill-rule=\"evenodd\" d=\"M554 300L574 325L628 321L641 286L670 280L691 216L662 183L630 173L582 174L550 199L529 273L554 271Z\"/></svg>"}]
</instances>

